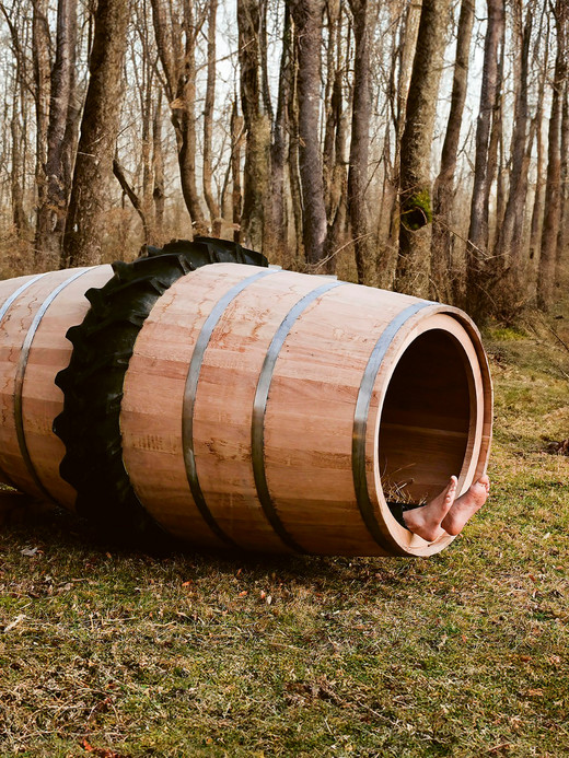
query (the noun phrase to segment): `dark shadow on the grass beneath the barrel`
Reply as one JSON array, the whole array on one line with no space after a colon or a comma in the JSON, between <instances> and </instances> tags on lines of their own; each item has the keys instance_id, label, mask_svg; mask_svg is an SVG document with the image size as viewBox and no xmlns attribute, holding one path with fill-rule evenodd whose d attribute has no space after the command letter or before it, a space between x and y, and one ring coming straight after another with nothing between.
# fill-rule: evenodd
<instances>
[{"instance_id":1,"label":"dark shadow on the grass beneath the barrel","mask_svg":"<svg viewBox=\"0 0 569 758\"><path fill-rule=\"evenodd\" d=\"M136 572L137 565L154 564L160 572L167 570L171 579L183 582L194 575L240 575L243 579L278 575L281 581L309 582L312 585L337 586L356 582L358 588L373 583L374 594L384 587L390 596L408 583L409 574L421 573L430 562L406 558L346 558L303 555L262 553L195 548L169 535L158 546L136 545L117 539L65 509L45 506L21 508L16 518L4 523L0 533L0 549L19 553L37 548L56 561L66 557L91 564L112 558L117 572ZM25 553L23 553L25 555Z\"/></svg>"}]
</instances>

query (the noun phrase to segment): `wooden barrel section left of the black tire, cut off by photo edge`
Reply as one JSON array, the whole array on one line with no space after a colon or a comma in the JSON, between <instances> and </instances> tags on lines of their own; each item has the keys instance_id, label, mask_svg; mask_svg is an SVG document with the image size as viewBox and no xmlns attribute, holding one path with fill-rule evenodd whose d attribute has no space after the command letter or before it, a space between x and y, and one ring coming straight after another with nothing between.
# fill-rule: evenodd
<instances>
[{"instance_id":1,"label":"wooden barrel section left of the black tire, cut off by photo edge","mask_svg":"<svg viewBox=\"0 0 569 758\"><path fill-rule=\"evenodd\" d=\"M97 266L0 282L0 480L67 508L77 493L59 475L65 447L51 425L63 394L55 377L71 357L66 331L89 310L84 292L112 276Z\"/></svg>"}]
</instances>

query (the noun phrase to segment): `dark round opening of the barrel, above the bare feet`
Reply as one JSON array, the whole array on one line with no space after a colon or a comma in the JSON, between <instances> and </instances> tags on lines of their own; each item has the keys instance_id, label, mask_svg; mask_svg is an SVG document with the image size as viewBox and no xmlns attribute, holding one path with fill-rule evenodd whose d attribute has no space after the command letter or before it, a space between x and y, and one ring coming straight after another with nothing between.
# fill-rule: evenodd
<instances>
[{"instance_id":1,"label":"dark round opening of the barrel, above the bare feet","mask_svg":"<svg viewBox=\"0 0 569 758\"><path fill-rule=\"evenodd\" d=\"M420 504L466 462L474 383L460 341L443 329L417 337L390 380L379 431L379 464L390 503Z\"/></svg>"}]
</instances>

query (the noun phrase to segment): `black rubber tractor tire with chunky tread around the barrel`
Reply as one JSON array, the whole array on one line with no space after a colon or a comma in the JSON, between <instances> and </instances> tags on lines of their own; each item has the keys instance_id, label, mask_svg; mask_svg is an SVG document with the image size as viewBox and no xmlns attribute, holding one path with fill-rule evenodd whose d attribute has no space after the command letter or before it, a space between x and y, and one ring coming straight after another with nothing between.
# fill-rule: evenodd
<instances>
[{"instance_id":1,"label":"black rubber tractor tire with chunky tread around the barrel","mask_svg":"<svg viewBox=\"0 0 569 758\"><path fill-rule=\"evenodd\" d=\"M83 323L67 331L73 351L56 377L65 395L54 421L66 445L59 470L77 490L77 512L107 540L147 550L175 545L146 512L123 464L123 384L137 335L158 299L181 277L214 263L268 266L265 256L231 242L174 241L131 264L113 264L113 278L85 293L91 307Z\"/></svg>"}]
</instances>

